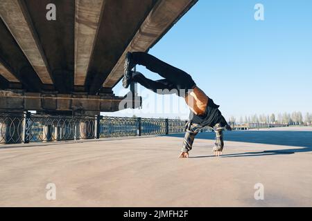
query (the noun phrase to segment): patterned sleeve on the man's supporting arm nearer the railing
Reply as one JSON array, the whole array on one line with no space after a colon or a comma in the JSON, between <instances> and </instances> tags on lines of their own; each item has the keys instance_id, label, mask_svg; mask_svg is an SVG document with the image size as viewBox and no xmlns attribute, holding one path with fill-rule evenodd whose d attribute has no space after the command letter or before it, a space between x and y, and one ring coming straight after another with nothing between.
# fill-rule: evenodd
<instances>
[{"instance_id":1,"label":"patterned sleeve on the man's supporting arm nearer the railing","mask_svg":"<svg viewBox=\"0 0 312 221\"><path fill-rule=\"evenodd\" d=\"M182 152L189 152L192 149L193 142L195 136L198 134L200 129L204 128L204 126L200 124L194 124L192 122L187 122L185 126L185 136L183 141Z\"/></svg>"}]
</instances>

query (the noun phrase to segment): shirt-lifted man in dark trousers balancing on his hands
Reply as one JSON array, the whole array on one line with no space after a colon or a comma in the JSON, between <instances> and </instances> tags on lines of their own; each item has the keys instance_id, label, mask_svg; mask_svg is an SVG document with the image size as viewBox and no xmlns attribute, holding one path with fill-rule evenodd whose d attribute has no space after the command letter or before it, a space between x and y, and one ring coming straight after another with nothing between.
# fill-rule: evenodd
<instances>
[{"instance_id":1,"label":"shirt-lifted man in dark trousers balancing on his hands","mask_svg":"<svg viewBox=\"0 0 312 221\"><path fill-rule=\"evenodd\" d=\"M164 79L153 81L144 77L139 72L133 72L137 64L145 66L148 70L159 74ZM189 121L185 126L183 147L180 158L189 157L189 151L193 146L195 136L205 126L214 128L216 133L214 155L218 156L223 151L223 130L231 130L225 118L218 110L219 106L214 104L191 78L191 75L183 70L175 68L164 61L149 55L146 52L128 52L125 56L123 87L128 88L134 81L157 94L176 94L184 97L185 102L191 109Z\"/></svg>"}]
</instances>

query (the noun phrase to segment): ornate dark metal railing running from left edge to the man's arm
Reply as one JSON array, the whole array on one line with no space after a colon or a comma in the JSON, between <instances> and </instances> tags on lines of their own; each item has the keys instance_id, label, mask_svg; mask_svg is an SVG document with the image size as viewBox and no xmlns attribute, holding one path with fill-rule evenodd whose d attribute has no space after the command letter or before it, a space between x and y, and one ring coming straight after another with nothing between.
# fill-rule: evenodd
<instances>
[{"instance_id":1,"label":"ornate dark metal railing running from left edge to the man's arm","mask_svg":"<svg viewBox=\"0 0 312 221\"><path fill-rule=\"evenodd\" d=\"M141 117L0 113L0 143L53 142L184 133L186 121Z\"/></svg>"}]
</instances>

